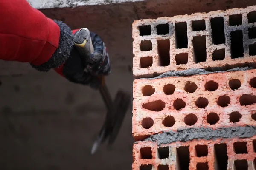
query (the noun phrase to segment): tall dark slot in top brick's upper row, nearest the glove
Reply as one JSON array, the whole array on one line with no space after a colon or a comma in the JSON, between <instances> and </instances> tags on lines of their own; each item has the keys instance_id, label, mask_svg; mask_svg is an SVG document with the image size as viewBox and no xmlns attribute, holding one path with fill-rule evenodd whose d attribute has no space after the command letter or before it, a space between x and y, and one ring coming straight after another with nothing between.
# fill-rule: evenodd
<instances>
[{"instance_id":1,"label":"tall dark slot in top brick's upper row, nearest the glove","mask_svg":"<svg viewBox=\"0 0 256 170\"><path fill-rule=\"evenodd\" d=\"M188 48L187 23L175 23L175 47Z\"/></svg>"}]
</instances>

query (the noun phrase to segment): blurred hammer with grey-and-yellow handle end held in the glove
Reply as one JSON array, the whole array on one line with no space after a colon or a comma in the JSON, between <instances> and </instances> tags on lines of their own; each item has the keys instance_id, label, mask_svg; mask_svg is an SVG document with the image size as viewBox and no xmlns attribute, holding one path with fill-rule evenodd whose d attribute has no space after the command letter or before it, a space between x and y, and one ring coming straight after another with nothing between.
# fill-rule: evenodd
<instances>
[{"instance_id":1,"label":"blurred hammer with grey-and-yellow handle end held in the glove","mask_svg":"<svg viewBox=\"0 0 256 170\"><path fill-rule=\"evenodd\" d=\"M87 28L81 28L77 31L74 37L74 45L81 56L89 57L90 54L93 53L93 43L90 37L90 31ZM88 70L85 71L90 72ZM93 75L93 73L91 74ZM111 145L114 143L130 104L130 95L122 90L117 91L116 97L114 101L112 101L107 85L105 84L105 76L95 76L97 76L101 82L99 92L107 108L107 114L102 129L93 144L91 154L94 154L99 145L105 142L108 137L108 144Z\"/></svg>"}]
</instances>

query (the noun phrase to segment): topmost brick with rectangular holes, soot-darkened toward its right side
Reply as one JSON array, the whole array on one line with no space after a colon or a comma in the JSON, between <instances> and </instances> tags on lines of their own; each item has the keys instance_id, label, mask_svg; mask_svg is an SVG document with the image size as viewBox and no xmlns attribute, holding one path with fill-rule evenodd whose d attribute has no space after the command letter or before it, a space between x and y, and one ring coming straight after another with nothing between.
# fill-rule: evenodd
<instances>
[{"instance_id":1,"label":"topmost brick with rectangular holes, soot-darkened toward its right side","mask_svg":"<svg viewBox=\"0 0 256 170\"><path fill-rule=\"evenodd\" d=\"M137 20L133 23L134 78L254 64L255 26L256 6Z\"/></svg>"}]
</instances>

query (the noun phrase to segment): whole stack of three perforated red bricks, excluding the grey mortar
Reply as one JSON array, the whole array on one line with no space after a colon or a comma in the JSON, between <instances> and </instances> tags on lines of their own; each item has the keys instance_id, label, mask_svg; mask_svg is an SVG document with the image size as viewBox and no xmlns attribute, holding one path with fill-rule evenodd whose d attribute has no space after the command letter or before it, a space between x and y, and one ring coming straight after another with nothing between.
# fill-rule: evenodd
<instances>
[{"instance_id":1,"label":"whole stack of three perforated red bricks, excluding the grey mortar","mask_svg":"<svg viewBox=\"0 0 256 170\"><path fill-rule=\"evenodd\" d=\"M255 133L167 144L147 138L256 125L256 6L135 21L133 40L133 170L256 169ZM215 72L156 77L191 68Z\"/></svg>"}]
</instances>

